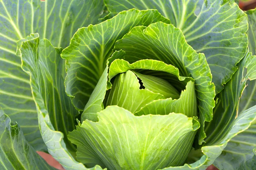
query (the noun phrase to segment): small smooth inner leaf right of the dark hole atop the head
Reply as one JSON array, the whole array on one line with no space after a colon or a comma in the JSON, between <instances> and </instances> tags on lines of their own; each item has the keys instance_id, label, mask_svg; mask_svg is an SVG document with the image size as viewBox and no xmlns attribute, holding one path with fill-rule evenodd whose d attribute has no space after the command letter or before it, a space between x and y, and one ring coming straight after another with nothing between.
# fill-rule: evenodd
<instances>
[{"instance_id":1,"label":"small smooth inner leaf right of the dark hole atop the head","mask_svg":"<svg viewBox=\"0 0 256 170\"><path fill-rule=\"evenodd\" d=\"M139 79L141 79L145 89L154 93L160 93L164 98L171 97L172 99L178 99L180 97L180 93L168 81L150 75L144 75L137 72L134 73Z\"/></svg>"}]
</instances>

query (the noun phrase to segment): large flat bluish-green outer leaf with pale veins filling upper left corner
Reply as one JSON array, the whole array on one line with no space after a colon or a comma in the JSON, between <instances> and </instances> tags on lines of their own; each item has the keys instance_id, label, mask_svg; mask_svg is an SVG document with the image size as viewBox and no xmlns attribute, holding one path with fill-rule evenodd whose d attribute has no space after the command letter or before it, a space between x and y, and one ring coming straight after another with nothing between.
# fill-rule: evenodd
<instances>
[{"instance_id":1,"label":"large flat bluish-green outer leaf with pale veins filling upper left corner","mask_svg":"<svg viewBox=\"0 0 256 170\"><path fill-rule=\"evenodd\" d=\"M35 150L47 150L29 86L16 56L17 40L38 32L66 47L78 28L98 23L103 0L0 0L0 106ZM19 53L19 51L17 51Z\"/></svg>"}]
</instances>

